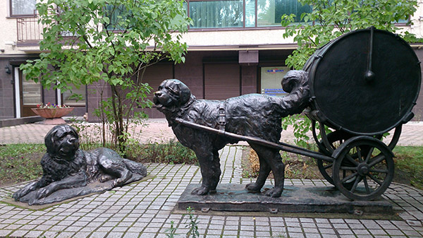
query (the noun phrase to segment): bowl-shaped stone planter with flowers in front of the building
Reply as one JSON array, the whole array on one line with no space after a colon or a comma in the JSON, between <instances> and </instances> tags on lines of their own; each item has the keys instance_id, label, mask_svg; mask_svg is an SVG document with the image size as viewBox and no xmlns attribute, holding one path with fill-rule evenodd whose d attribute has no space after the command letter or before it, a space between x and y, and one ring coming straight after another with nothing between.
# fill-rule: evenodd
<instances>
[{"instance_id":1,"label":"bowl-shaped stone planter with flowers in front of the building","mask_svg":"<svg viewBox=\"0 0 423 238\"><path fill-rule=\"evenodd\" d=\"M32 112L39 115L39 117L44 117L44 124L64 124L63 116L66 116L73 111L73 107L66 105L56 105L50 102L47 104L41 103L37 105L37 108L31 108Z\"/></svg>"}]
</instances>

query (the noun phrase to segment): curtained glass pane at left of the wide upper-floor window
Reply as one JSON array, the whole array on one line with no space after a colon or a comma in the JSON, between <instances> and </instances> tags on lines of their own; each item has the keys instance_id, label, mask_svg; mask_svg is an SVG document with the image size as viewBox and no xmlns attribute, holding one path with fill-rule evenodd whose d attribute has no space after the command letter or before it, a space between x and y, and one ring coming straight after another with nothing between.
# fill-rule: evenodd
<instances>
[{"instance_id":1,"label":"curtained glass pane at left of the wide upper-floor window","mask_svg":"<svg viewBox=\"0 0 423 238\"><path fill-rule=\"evenodd\" d=\"M191 28L242 28L243 0L190 1Z\"/></svg>"}]
</instances>

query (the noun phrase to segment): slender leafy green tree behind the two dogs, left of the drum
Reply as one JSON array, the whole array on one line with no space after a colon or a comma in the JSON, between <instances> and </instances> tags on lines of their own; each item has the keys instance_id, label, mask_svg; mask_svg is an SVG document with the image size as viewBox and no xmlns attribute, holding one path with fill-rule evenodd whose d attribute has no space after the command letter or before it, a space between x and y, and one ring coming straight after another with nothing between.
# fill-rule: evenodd
<instances>
[{"instance_id":1,"label":"slender leafy green tree behind the two dogs, left of the drum","mask_svg":"<svg viewBox=\"0 0 423 238\"><path fill-rule=\"evenodd\" d=\"M97 117L114 124L114 141L124 150L129 118L145 117L137 109L152 105L151 88L142 82L147 66L185 61L187 45L180 39L190 18L183 1L42 0L37 11L42 54L20 69L62 92L88 84L101 86L96 93L102 100L104 90L111 92Z\"/></svg>"}]
</instances>

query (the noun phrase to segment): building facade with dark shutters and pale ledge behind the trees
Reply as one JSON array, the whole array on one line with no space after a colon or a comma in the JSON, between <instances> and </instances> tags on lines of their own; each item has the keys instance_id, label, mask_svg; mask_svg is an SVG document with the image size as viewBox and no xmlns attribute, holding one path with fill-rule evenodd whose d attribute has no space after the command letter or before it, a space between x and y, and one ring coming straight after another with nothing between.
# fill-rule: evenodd
<instances>
[{"instance_id":1,"label":"building facade with dark shutters and pale ledge behind the trees","mask_svg":"<svg viewBox=\"0 0 423 238\"><path fill-rule=\"evenodd\" d=\"M19 65L39 56L42 25L37 23L36 0L6 0L0 3L0 119L32 116L30 107L40 102L76 107L73 115L88 112L90 120L99 102L98 85L74 91L85 100L73 100L68 93L42 88L25 81ZM157 89L166 78L178 78L187 84L197 98L222 100L247 93L280 95L280 80L288 71L286 57L293 52L293 39L284 39L280 26L284 13L310 11L296 0L191 0L185 5L192 18L190 30L183 36L188 44L185 64L159 63L149 67L145 82ZM419 5L414 25L401 26L423 37L423 6ZM423 61L421 44L412 44ZM422 94L423 90L420 90ZM109 92L106 92L106 94ZM149 95L152 98L152 95ZM149 117L163 115L147 109ZM423 95L413 109L414 120L422 121Z\"/></svg>"}]
</instances>

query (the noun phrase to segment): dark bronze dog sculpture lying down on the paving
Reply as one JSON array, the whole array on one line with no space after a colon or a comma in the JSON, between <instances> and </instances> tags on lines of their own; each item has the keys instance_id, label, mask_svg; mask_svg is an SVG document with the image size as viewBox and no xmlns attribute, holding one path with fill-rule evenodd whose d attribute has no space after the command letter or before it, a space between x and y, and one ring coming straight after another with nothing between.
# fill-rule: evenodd
<instances>
[{"instance_id":1,"label":"dark bronze dog sculpture lying down on the paving","mask_svg":"<svg viewBox=\"0 0 423 238\"><path fill-rule=\"evenodd\" d=\"M47 153L41 159L42 178L13 194L16 201L30 205L63 201L106 191L147 175L144 165L123 159L109 148L80 150L78 133L66 124L54 126L44 143Z\"/></svg>"}]
</instances>

